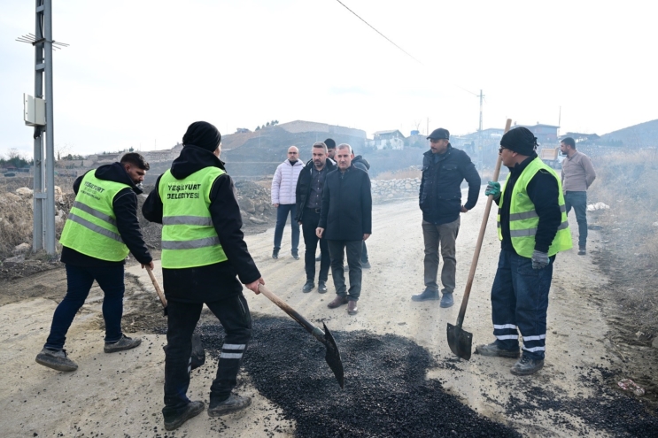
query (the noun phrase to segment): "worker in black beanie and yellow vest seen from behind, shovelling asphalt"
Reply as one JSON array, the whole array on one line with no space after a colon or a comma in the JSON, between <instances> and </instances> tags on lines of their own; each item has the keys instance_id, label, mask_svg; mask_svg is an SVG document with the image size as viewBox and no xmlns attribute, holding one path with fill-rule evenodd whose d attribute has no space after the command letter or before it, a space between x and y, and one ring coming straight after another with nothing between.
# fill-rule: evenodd
<instances>
[{"instance_id":1,"label":"worker in black beanie and yellow vest seen from behind, shovelling asphalt","mask_svg":"<svg viewBox=\"0 0 658 438\"><path fill-rule=\"evenodd\" d=\"M259 284L265 284L240 229L235 187L220 160L220 132L210 123L195 122L182 143L181 155L159 176L142 209L144 218L163 225L162 277L168 319L162 414L166 430L182 426L205 407L187 397L192 333L204 304L226 332L210 388L208 415L219 417L252 402L231 394L252 336L252 318L240 283L256 294Z\"/></svg>"}]
</instances>

